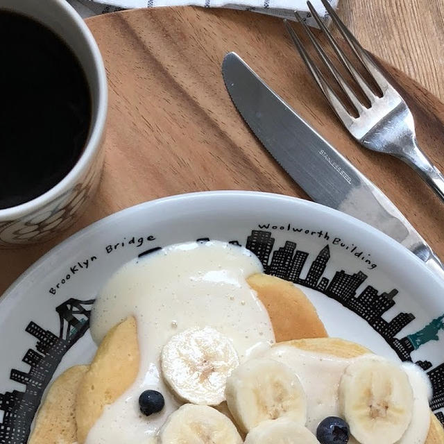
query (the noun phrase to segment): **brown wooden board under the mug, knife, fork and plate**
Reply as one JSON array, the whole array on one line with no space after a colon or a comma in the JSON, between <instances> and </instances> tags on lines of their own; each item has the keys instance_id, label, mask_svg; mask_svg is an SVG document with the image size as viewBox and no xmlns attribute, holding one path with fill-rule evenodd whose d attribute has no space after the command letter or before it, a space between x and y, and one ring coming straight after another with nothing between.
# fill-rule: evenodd
<instances>
[{"instance_id":1,"label":"brown wooden board under the mug, knife, fork and plate","mask_svg":"<svg viewBox=\"0 0 444 444\"><path fill-rule=\"evenodd\" d=\"M236 51L257 74L398 205L444 258L444 204L409 167L360 148L307 74L280 19L201 8L131 10L87 21L110 87L103 179L92 205L46 244L0 252L0 294L38 257L108 214L171 194L252 189L307 198L237 113L221 62ZM386 66L416 119L419 142L444 170L444 105Z\"/></svg>"}]
</instances>

